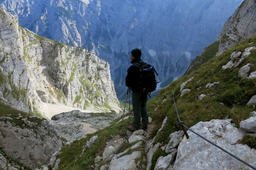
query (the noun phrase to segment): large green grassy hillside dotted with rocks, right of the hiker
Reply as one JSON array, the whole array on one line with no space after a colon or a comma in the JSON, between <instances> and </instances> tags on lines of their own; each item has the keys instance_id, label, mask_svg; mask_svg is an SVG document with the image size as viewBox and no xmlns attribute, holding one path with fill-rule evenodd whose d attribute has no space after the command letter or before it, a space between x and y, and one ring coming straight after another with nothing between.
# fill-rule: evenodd
<instances>
[{"instance_id":1,"label":"large green grassy hillside dotted with rocks, right of the hiker","mask_svg":"<svg viewBox=\"0 0 256 170\"><path fill-rule=\"evenodd\" d=\"M249 45L251 42L254 42L254 44ZM251 51L251 55L237 68L222 70L222 66L230 61L230 54L233 51L244 51L245 48L252 46L256 46L256 37L239 43L218 57L209 59L198 69L185 74L180 79L172 82L167 88L162 89L157 97L148 102L148 114L152 117L155 125L151 137L156 135L162 125L162 121L168 116L166 125L156 135L156 143L166 144L168 142L166 136L180 129L172 98L161 104L164 94L172 95L174 93L176 95L180 119L188 127L195 125L199 121L224 118L231 118L232 123L239 127L240 121L250 117L250 112L255 109L251 106L246 106L246 103L256 94L256 80L238 78L237 74L239 69L246 63L256 64L256 50ZM205 51L205 53L208 53L208 51ZM184 89L191 89L191 92L180 97L180 85L191 77L194 77L194 79L184 87ZM209 82L220 82L220 84L207 89L205 86ZM196 90L199 87L202 88ZM206 94L207 96L201 101L195 100L200 94ZM220 102L224 105L220 104ZM154 112L156 107L158 109Z\"/></svg>"}]
</instances>

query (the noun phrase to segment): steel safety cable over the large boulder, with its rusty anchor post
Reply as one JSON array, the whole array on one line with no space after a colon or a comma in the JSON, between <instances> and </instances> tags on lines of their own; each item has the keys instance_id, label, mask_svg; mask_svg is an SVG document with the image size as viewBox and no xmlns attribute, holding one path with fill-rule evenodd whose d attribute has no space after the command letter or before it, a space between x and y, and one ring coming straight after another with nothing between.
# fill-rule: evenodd
<instances>
[{"instance_id":1,"label":"steel safety cable over the large boulder, with its rusty anchor post","mask_svg":"<svg viewBox=\"0 0 256 170\"><path fill-rule=\"evenodd\" d=\"M196 133L195 131L193 131L193 130L190 129L189 127L187 127L187 126L184 124L183 121L180 121L180 116L179 116L178 109L177 109L176 102L175 102L175 95L172 95L172 97L173 97L173 100L174 100L174 105L175 105L175 108L176 108L176 113L177 113L177 116L178 116L178 119L179 119L180 126L186 127L189 131L191 131L192 133L198 135L200 138L204 139L204 140L207 141L208 143L214 145L215 147L217 147L218 149L220 149L220 150L226 152L227 154L229 154L229 155L232 156L233 158L236 158L236 159L239 160L240 162L242 162L242 163L246 164L247 166L249 166L250 168L256 170L256 167L254 167L254 166L252 166L251 164L245 162L244 160L238 158L238 157L235 156L234 154L228 152L227 150L223 149L222 147L216 145L215 143L209 141L208 139L206 139L206 138L203 137L202 135L199 135L198 133ZM183 128L182 128L182 129L183 129ZM184 129L183 129L183 131L184 131ZM187 134L187 132L185 132L185 131L184 131L184 133L185 133L185 135ZM187 137L187 139L188 139L188 136L187 136L187 135L186 135L186 137Z\"/></svg>"}]
</instances>

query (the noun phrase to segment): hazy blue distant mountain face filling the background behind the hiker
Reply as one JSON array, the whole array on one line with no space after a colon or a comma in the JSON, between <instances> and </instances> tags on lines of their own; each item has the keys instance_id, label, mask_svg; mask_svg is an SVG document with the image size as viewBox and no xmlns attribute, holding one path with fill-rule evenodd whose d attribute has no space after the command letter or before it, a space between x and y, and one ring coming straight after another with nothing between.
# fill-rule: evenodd
<instances>
[{"instance_id":1,"label":"hazy blue distant mountain face filling the background behind the hiker","mask_svg":"<svg viewBox=\"0 0 256 170\"><path fill-rule=\"evenodd\" d=\"M98 51L110 63L116 94L123 99L130 51L160 73L159 88L180 77L242 0L0 0L35 33Z\"/></svg>"}]
</instances>

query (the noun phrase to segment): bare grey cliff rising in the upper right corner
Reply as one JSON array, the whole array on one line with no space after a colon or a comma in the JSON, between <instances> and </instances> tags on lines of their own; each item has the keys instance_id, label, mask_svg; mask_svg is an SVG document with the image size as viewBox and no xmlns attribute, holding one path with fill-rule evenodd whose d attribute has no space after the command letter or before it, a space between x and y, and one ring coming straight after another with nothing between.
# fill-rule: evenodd
<instances>
[{"instance_id":1,"label":"bare grey cliff rising in the upper right corner","mask_svg":"<svg viewBox=\"0 0 256 170\"><path fill-rule=\"evenodd\" d=\"M256 33L256 1L244 0L218 35L218 54Z\"/></svg>"}]
</instances>

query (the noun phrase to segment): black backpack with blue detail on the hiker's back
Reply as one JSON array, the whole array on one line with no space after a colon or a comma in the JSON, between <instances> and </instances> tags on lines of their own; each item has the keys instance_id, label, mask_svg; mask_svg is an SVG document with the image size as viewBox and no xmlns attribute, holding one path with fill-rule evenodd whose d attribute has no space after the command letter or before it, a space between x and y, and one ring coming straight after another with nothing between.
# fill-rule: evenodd
<instances>
[{"instance_id":1,"label":"black backpack with blue detail on the hiker's back","mask_svg":"<svg viewBox=\"0 0 256 170\"><path fill-rule=\"evenodd\" d=\"M156 84L159 83L156 82L155 73L156 75L158 75L158 73L156 72L154 66L146 62L143 62L142 66L139 63L133 63L133 65L140 68L140 84L143 92L154 92L156 90Z\"/></svg>"}]
</instances>

